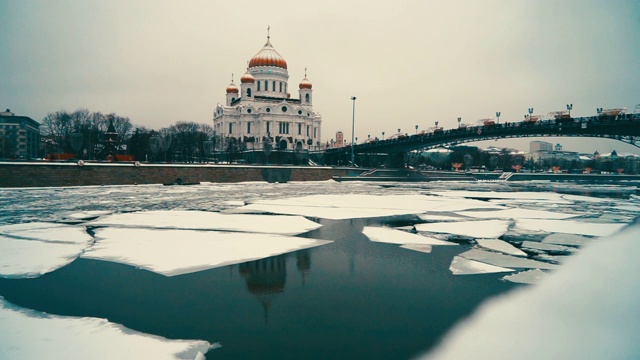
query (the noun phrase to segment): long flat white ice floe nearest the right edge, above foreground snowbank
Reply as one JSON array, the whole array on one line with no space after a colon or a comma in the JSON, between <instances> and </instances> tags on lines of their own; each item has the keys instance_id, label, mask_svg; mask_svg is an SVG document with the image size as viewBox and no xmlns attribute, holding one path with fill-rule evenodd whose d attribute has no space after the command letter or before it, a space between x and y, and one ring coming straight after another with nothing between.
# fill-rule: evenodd
<instances>
[{"instance_id":1,"label":"long flat white ice floe nearest the right edge, above foreground snowbank","mask_svg":"<svg viewBox=\"0 0 640 360\"><path fill-rule=\"evenodd\" d=\"M519 219L516 228L550 233L609 236L624 228L626 224L589 223L576 220Z\"/></svg>"}]
</instances>

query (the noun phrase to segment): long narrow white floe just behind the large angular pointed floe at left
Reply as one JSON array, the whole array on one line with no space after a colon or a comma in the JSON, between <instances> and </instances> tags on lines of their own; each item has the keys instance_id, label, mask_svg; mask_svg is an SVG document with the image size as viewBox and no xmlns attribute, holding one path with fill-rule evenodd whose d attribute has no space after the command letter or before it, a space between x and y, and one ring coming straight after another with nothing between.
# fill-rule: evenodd
<instances>
[{"instance_id":1,"label":"long narrow white floe just behind the large angular pointed floe at left","mask_svg":"<svg viewBox=\"0 0 640 360\"><path fill-rule=\"evenodd\" d=\"M301 216L221 214L205 211L143 211L114 214L87 223L92 226L147 227L243 231L281 235L298 235L322 225Z\"/></svg>"}]
</instances>

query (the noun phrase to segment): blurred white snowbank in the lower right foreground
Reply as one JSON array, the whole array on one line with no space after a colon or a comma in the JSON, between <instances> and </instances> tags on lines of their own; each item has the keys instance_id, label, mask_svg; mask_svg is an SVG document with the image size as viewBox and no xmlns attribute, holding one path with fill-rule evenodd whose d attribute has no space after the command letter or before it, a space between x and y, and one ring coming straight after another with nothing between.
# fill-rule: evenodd
<instances>
[{"instance_id":1,"label":"blurred white snowbank in the lower right foreground","mask_svg":"<svg viewBox=\"0 0 640 360\"><path fill-rule=\"evenodd\" d=\"M481 305L428 359L638 359L640 223ZM526 326L523 326L526 324Z\"/></svg>"}]
</instances>

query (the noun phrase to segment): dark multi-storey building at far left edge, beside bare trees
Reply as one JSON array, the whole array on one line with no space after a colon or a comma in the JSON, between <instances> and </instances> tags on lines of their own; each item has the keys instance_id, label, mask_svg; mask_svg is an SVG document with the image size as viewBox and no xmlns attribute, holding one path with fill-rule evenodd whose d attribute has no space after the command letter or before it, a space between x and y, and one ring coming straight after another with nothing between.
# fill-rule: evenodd
<instances>
[{"instance_id":1,"label":"dark multi-storey building at far left edge, beside bare trees","mask_svg":"<svg viewBox=\"0 0 640 360\"><path fill-rule=\"evenodd\" d=\"M0 112L0 158L33 159L39 156L40 123L11 110Z\"/></svg>"}]
</instances>

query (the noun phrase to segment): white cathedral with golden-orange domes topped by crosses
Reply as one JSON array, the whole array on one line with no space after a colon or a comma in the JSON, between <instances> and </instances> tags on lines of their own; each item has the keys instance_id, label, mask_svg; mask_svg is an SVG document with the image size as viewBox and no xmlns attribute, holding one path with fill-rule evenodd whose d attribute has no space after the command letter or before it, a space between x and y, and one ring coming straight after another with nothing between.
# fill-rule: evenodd
<instances>
[{"instance_id":1,"label":"white cathedral with golden-orange domes topped by crosses","mask_svg":"<svg viewBox=\"0 0 640 360\"><path fill-rule=\"evenodd\" d=\"M218 137L235 138L246 148L311 150L320 146L322 117L313 111L312 84L305 77L298 85L298 99L289 93L287 62L267 43L249 61L240 88L227 87L225 105L213 112Z\"/></svg>"}]
</instances>

